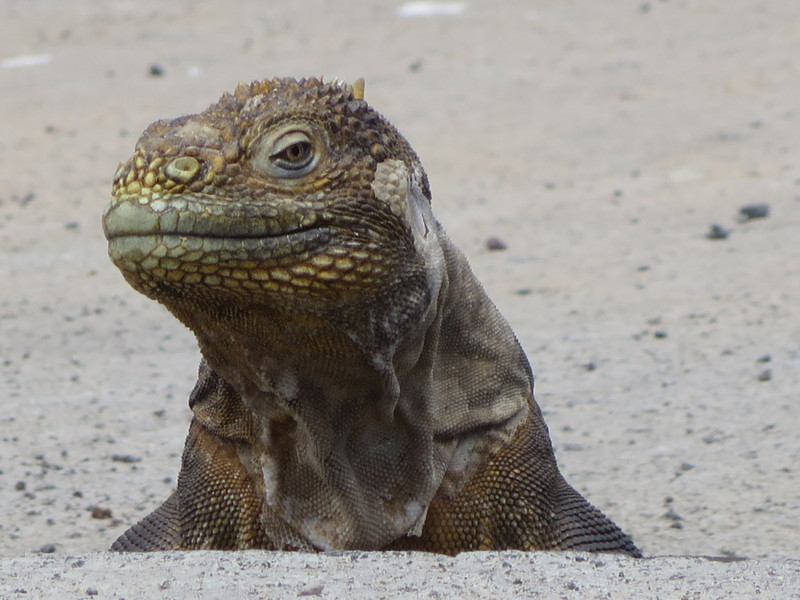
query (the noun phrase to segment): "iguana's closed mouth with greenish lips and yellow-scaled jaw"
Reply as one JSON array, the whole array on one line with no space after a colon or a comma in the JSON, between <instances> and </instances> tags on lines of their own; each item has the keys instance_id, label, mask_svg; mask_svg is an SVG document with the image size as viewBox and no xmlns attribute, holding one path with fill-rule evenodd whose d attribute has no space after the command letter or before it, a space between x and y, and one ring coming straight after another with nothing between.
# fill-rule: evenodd
<instances>
[{"instance_id":1,"label":"iguana's closed mouth with greenish lips and yellow-scaled jaw","mask_svg":"<svg viewBox=\"0 0 800 600\"><path fill-rule=\"evenodd\" d=\"M128 282L157 299L201 286L308 294L376 285L383 265L374 244L343 239L333 219L307 207L220 206L195 196L115 198L103 215L108 254ZM302 208L302 207L301 207Z\"/></svg>"}]
</instances>

